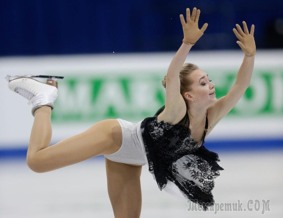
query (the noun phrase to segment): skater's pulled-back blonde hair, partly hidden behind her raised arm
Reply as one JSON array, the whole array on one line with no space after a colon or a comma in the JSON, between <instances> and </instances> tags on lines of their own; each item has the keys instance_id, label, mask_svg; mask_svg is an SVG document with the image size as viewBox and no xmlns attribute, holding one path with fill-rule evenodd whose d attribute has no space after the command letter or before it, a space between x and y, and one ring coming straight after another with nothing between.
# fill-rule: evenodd
<instances>
[{"instance_id":1,"label":"skater's pulled-back blonde hair, partly hidden behind her raised arm","mask_svg":"<svg viewBox=\"0 0 283 218\"><path fill-rule=\"evenodd\" d=\"M190 75L194 70L197 70L197 69L199 69L198 66L193 63L184 63L184 65L182 66L180 70L180 74L179 74L180 93L183 96L183 98L186 92L190 92L192 90L191 85L193 84L193 81L190 79ZM161 81L161 84L163 85L165 89L166 89L166 76L167 75L165 75L164 79ZM186 100L185 102L187 104Z\"/></svg>"}]
</instances>

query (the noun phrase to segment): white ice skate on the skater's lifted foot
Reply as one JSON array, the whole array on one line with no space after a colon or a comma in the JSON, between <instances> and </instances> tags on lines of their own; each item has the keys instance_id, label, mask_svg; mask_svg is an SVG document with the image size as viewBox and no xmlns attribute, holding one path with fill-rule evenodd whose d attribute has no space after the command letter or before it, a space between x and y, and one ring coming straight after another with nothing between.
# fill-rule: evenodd
<instances>
[{"instance_id":1,"label":"white ice skate on the skater's lifted foot","mask_svg":"<svg viewBox=\"0 0 283 218\"><path fill-rule=\"evenodd\" d=\"M40 82L33 77L49 78L46 83ZM45 76L45 75L7 75L5 77L8 87L29 100L28 104L32 103L32 116L34 111L42 106L50 106L54 109L54 101L58 95L57 79L64 77Z\"/></svg>"}]
</instances>

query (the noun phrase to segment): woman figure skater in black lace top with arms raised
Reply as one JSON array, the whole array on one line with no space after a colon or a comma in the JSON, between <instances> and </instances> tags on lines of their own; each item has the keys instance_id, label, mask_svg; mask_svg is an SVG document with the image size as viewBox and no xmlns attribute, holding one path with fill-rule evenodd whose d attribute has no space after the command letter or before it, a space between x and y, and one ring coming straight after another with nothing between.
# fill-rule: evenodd
<instances>
[{"instance_id":1,"label":"woman figure skater in black lace top with arms raised","mask_svg":"<svg viewBox=\"0 0 283 218\"><path fill-rule=\"evenodd\" d=\"M206 72L184 61L208 24L198 29L200 10L186 10L181 47L162 81L165 105L153 117L138 123L123 119L99 121L85 132L50 146L51 111L63 77L8 75L8 86L32 103L34 123L27 150L27 165L37 173L59 169L104 155L107 189L114 216L139 217L142 206L140 176L147 164L160 190L198 203L203 210L214 205L214 178L223 170L218 155L204 146L205 136L235 106L248 88L254 67L256 46L254 25L249 33L236 24L244 60L235 84L227 95L216 99L215 87ZM184 64L184 65L183 65ZM48 77L46 83L34 77ZM233 128L233 126L231 126Z\"/></svg>"}]
</instances>

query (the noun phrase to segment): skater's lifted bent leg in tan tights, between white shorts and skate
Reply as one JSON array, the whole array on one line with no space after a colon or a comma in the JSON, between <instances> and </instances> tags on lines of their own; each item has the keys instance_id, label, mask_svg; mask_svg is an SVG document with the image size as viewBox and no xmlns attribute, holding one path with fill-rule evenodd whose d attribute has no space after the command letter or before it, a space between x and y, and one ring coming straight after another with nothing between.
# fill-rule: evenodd
<instances>
[{"instance_id":1,"label":"skater's lifted bent leg in tan tights, between white shorts and skate","mask_svg":"<svg viewBox=\"0 0 283 218\"><path fill-rule=\"evenodd\" d=\"M99 121L85 132L53 146L49 146L51 136L51 108L43 106L34 113L27 150L27 164L35 172L48 172L97 155L112 154L122 144L122 130L116 119Z\"/></svg>"}]
</instances>

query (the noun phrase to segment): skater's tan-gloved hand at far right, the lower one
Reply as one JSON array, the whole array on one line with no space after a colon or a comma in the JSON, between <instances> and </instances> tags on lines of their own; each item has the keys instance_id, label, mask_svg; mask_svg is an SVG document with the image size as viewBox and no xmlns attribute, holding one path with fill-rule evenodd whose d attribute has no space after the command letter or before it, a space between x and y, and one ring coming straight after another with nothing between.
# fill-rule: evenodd
<instances>
[{"instance_id":1,"label":"skater's tan-gloved hand at far right, the lower one","mask_svg":"<svg viewBox=\"0 0 283 218\"><path fill-rule=\"evenodd\" d=\"M249 33L246 22L243 21L244 31L242 31L239 24L236 24L238 31L233 28L233 32L240 41L237 44L241 47L247 57L254 56L256 54L256 43L254 41L254 24L251 25L251 32Z\"/></svg>"}]
</instances>

